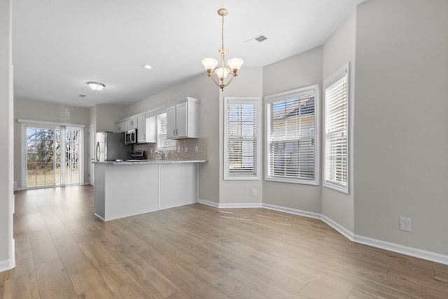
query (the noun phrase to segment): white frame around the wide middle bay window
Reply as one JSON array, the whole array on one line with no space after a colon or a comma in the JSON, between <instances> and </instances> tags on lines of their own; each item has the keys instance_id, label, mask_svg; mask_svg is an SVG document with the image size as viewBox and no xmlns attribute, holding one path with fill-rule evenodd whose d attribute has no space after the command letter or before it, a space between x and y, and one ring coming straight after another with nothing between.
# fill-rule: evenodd
<instances>
[{"instance_id":1,"label":"white frame around the wide middle bay window","mask_svg":"<svg viewBox=\"0 0 448 299\"><path fill-rule=\"evenodd\" d=\"M271 176L269 174L269 104L273 102L286 101L295 97L301 97L314 92L314 179L290 179L278 176ZM320 148L320 110L319 110L319 88L318 84L304 86L302 88L296 88L294 90L288 90L285 92L279 92L274 95L268 95L265 97L265 181L276 181L281 183L299 183L304 185L319 185L320 180L320 162L319 162L319 148Z\"/></svg>"}]
</instances>

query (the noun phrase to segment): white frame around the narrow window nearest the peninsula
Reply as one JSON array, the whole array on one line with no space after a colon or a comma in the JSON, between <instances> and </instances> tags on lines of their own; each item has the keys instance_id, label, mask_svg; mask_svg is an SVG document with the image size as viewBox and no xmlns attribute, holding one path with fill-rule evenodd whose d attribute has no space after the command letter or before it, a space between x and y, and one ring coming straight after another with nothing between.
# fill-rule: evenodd
<instances>
[{"instance_id":1,"label":"white frame around the narrow window nearest the peninsula","mask_svg":"<svg viewBox=\"0 0 448 299\"><path fill-rule=\"evenodd\" d=\"M254 174L232 175L229 172L228 161L228 104L253 104L255 105L255 151L254 151ZM228 181L249 181L260 179L260 157L261 157L261 97L224 97L224 151L223 151L223 179Z\"/></svg>"}]
</instances>

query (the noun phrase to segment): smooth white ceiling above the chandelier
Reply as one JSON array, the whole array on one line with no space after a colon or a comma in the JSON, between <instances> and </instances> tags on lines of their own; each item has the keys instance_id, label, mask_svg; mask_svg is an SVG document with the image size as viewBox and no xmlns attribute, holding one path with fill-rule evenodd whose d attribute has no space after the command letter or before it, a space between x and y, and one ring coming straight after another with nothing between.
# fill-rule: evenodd
<instances>
[{"instance_id":1,"label":"smooth white ceiling above the chandelier","mask_svg":"<svg viewBox=\"0 0 448 299\"><path fill-rule=\"evenodd\" d=\"M221 48L221 7L229 11L226 57L244 60L244 76L244 67L321 46L363 1L14 0L14 95L66 106L127 106L206 76L202 58L217 59ZM244 43L258 34L267 40ZM94 92L87 81L106 88Z\"/></svg>"}]
</instances>

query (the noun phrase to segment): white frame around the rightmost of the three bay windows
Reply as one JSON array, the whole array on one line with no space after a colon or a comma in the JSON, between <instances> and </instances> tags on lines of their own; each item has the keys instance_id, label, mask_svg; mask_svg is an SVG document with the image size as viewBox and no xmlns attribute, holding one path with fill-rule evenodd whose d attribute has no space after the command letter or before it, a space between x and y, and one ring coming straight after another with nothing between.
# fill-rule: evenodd
<instances>
[{"instance_id":1,"label":"white frame around the rightmost of the three bay windows","mask_svg":"<svg viewBox=\"0 0 448 299\"><path fill-rule=\"evenodd\" d=\"M337 83L346 76L346 186L336 183L335 181L328 181L328 134L327 134L327 112L328 107L326 90L332 85ZM337 190L342 193L349 194L350 188L350 62L344 64L342 68L335 71L330 77L328 77L323 83L323 183L322 185L326 188Z\"/></svg>"}]
</instances>

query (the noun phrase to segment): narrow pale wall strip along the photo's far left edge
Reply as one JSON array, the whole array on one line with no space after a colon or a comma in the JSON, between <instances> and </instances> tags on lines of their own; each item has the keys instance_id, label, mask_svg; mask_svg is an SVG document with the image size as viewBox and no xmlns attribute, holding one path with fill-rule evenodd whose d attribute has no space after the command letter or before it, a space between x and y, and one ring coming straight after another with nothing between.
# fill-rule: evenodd
<instances>
[{"instance_id":1,"label":"narrow pale wall strip along the photo's far left edge","mask_svg":"<svg viewBox=\"0 0 448 299\"><path fill-rule=\"evenodd\" d=\"M0 1L0 272L15 266L13 239L11 2L10 0Z\"/></svg>"}]
</instances>

